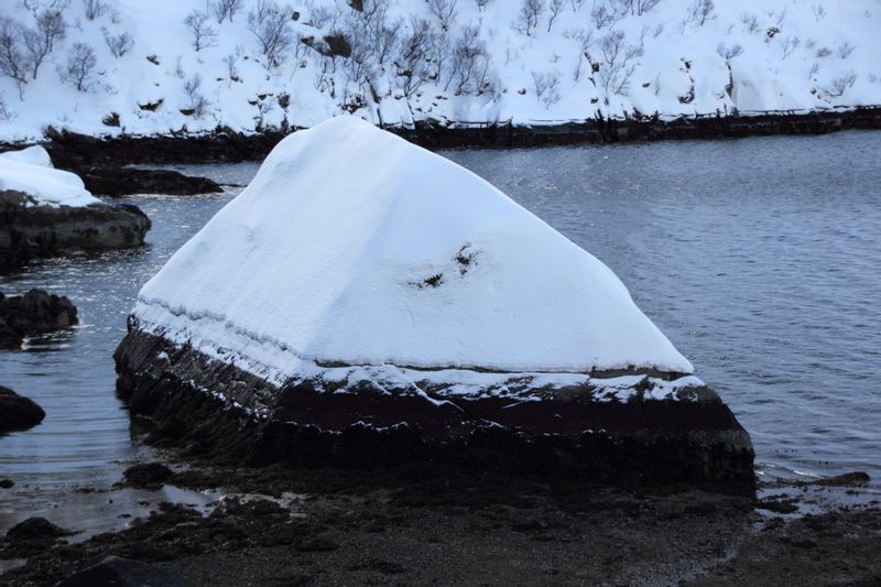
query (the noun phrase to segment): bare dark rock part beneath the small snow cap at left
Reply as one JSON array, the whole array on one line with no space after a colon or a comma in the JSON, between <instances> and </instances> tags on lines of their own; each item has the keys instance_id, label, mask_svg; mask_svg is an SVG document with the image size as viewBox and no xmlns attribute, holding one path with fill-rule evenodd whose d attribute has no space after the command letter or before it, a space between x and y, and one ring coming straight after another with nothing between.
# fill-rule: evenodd
<instances>
[{"instance_id":1,"label":"bare dark rock part beneath the small snow cap at left","mask_svg":"<svg viewBox=\"0 0 881 587\"><path fill-rule=\"evenodd\" d=\"M46 206L0 192L0 271L37 258L140 247L150 219L135 206Z\"/></svg>"}]
</instances>

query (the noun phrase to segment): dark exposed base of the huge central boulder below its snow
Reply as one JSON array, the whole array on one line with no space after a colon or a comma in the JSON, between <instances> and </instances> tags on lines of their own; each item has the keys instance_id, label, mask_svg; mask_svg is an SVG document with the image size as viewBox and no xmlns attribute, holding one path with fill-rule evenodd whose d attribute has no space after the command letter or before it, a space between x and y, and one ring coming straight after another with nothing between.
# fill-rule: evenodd
<instances>
[{"instance_id":1,"label":"dark exposed base of the huge central boulder below its snow","mask_svg":"<svg viewBox=\"0 0 881 587\"><path fill-rule=\"evenodd\" d=\"M118 392L146 441L215 463L396 470L428 463L477 476L754 490L749 435L705 387L679 400L597 401L591 389L573 388L520 403L431 402L368 384L334 393L311 380L276 388L133 320L115 359Z\"/></svg>"}]
</instances>

